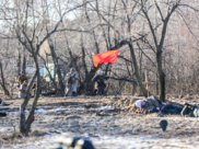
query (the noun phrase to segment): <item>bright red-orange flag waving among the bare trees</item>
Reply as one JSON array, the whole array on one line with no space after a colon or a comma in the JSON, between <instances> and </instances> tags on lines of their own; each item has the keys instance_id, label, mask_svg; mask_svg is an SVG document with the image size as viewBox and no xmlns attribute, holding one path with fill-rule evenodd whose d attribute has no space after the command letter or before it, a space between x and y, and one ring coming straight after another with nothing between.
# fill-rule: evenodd
<instances>
[{"instance_id":1,"label":"bright red-orange flag waving among the bare trees","mask_svg":"<svg viewBox=\"0 0 199 149\"><path fill-rule=\"evenodd\" d=\"M93 55L94 66L97 67L98 64L103 64L103 62L115 64L118 53L119 53L119 49L108 50L102 54Z\"/></svg>"}]
</instances>

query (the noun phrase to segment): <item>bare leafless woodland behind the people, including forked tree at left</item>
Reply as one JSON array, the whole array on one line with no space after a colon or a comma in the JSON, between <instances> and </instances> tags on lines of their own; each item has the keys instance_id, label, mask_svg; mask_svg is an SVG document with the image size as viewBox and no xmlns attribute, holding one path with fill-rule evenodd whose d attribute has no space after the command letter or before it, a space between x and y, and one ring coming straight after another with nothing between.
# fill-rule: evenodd
<instances>
[{"instance_id":1,"label":"bare leafless woodland behind the people, including forked tree at left","mask_svg":"<svg viewBox=\"0 0 199 149\"><path fill-rule=\"evenodd\" d=\"M2 0L0 85L12 95L11 83L21 70L30 79L21 133L30 131L47 80L43 69L49 92L62 96L71 67L80 77L79 94L93 92L99 68L106 76L113 73L109 94L159 94L165 101L165 94L197 93L198 5L189 0ZM94 67L94 54L114 49L119 49L115 65ZM34 81L34 103L25 118Z\"/></svg>"}]
</instances>

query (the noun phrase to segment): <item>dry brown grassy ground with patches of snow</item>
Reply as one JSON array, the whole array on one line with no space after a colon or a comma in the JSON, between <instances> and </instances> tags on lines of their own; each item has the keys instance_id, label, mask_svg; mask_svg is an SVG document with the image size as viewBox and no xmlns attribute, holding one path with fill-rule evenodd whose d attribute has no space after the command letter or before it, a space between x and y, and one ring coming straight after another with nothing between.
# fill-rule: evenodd
<instances>
[{"instance_id":1,"label":"dry brown grassy ground with patches of snow","mask_svg":"<svg viewBox=\"0 0 199 149\"><path fill-rule=\"evenodd\" d=\"M35 122L30 137L19 130L20 99L5 99L8 113L0 119L0 149L40 149L58 144L61 138L81 136L89 138L96 149L133 148L199 148L198 118L180 115L138 115L132 111L134 101L142 96L77 96L39 98ZM198 103L198 95L169 96L167 101L183 104ZM33 103L28 103L26 113ZM167 119L165 133L159 126Z\"/></svg>"}]
</instances>

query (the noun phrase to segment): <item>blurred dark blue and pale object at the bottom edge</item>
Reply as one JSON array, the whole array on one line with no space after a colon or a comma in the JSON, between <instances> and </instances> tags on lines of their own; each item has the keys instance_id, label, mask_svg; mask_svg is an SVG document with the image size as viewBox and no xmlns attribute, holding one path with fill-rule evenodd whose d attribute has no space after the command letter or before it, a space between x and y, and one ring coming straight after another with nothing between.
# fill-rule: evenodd
<instances>
[{"instance_id":1,"label":"blurred dark blue and pale object at the bottom edge","mask_svg":"<svg viewBox=\"0 0 199 149\"><path fill-rule=\"evenodd\" d=\"M59 145L46 149L95 149L92 142L81 137L60 138Z\"/></svg>"}]
</instances>

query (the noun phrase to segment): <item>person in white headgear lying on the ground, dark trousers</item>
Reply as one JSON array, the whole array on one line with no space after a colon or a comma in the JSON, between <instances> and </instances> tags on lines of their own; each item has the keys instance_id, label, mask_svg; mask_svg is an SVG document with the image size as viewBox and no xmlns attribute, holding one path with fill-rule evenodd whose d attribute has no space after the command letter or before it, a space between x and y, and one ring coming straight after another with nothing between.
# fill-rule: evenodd
<instances>
[{"instance_id":1,"label":"person in white headgear lying on the ground, dark trousers","mask_svg":"<svg viewBox=\"0 0 199 149\"><path fill-rule=\"evenodd\" d=\"M155 112L163 112L164 114L180 114L183 107L173 104L163 103L157 96L152 95L144 100L136 102L137 113L150 114Z\"/></svg>"}]
</instances>

